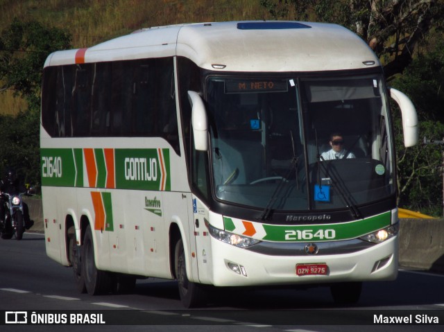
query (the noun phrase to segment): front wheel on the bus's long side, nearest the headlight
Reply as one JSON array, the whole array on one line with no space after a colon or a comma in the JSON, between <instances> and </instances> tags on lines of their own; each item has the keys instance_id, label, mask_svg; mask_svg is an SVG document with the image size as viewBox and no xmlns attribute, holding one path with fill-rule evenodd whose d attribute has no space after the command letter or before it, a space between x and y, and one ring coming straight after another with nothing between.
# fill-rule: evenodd
<instances>
[{"instance_id":1,"label":"front wheel on the bus's long side, nearest the headlight","mask_svg":"<svg viewBox=\"0 0 444 332\"><path fill-rule=\"evenodd\" d=\"M183 306L185 306L185 308L195 308L204 305L206 292L203 289L203 286L188 280L187 267L185 264L185 250L182 239L176 243L174 257L174 268L176 279L178 280L180 301Z\"/></svg>"}]
</instances>

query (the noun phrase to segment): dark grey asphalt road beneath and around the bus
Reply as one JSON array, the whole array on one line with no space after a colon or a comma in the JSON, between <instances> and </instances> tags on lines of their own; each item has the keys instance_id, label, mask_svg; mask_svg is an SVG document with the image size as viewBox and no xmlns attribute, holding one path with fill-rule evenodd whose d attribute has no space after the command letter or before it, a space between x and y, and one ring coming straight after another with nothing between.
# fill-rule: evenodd
<instances>
[{"instance_id":1,"label":"dark grey asphalt road beneath and around the bus","mask_svg":"<svg viewBox=\"0 0 444 332\"><path fill-rule=\"evenodd\" d=\"M25 234L22 241L1 240L0 262L0 315L23 311L29 321L35 313L33 317L43 323L5 324L1 331L357 331L357 325L362 331L443 331L444 327L444 276L425 272L401 270L396 281L364 283L361 300L352 307L335 306L330 290L323 287L233 288L214 292L207 308L185 311L175 281L140 280L129 295L79 294L71 269L46 256L42 234ZM85 311L101 315L107 324L51 324L51 319L61 317L56 314L67 315L69 321L71 313ZM407 322L393 324L391 317ZM6 316L0 317L1 322Z\"/></svg>"}]
</instances>

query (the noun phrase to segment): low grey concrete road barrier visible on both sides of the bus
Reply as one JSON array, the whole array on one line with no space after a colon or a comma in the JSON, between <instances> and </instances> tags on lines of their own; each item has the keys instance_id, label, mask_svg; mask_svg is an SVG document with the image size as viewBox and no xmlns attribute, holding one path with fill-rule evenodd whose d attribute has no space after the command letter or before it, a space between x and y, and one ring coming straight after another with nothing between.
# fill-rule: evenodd
<instances>
[{"instance_id":1,"label":"low grey concrete road barrier visible on both sides of the bus","mask_svg":"<svg viewBox=\"0 0 444 332\"><path fill-rule=\"evenodd\" d=\"M34 226L44 232L42 200L25 198ZM444 272L444 219L400 219L400 265L415 270Z\"/></svg>"}]
</instances>

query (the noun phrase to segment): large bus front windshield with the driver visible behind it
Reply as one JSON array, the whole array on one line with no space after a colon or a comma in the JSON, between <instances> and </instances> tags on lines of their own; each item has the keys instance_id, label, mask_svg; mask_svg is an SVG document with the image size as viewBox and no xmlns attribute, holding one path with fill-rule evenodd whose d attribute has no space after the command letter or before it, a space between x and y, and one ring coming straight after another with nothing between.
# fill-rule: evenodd
<instances>
[{"instance_id":1,"label":"large bus front windshield with the driver visible behind it","mask_svg":"<svg viewBox=\"0 0 444 332\"><path fill-rule=\"evenodd\" d=\"M393 195L382 76L207 79L217 199L345 209Z\"/></svg>"}]
</instances>

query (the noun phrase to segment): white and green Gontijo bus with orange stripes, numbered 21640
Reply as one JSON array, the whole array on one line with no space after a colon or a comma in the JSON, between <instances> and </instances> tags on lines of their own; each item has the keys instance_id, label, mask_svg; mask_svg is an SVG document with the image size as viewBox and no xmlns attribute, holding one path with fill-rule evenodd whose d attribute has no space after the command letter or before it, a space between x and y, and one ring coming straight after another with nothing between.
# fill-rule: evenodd
<instances>
[{"instance_id":1,"label":"white and green Gontijo bus with orange stripes, numbered 21640","mask_svg":"<svg viewBox=\"0 0 444 332\"><path fill-rule=\"evenodd\" d=\"M324 285L356 302L362 281L398 272L389 96L415 145L409 99L333 24L181 24L52 53L46 252L92 295L157 277L186 307L211 286ZM332 134L339 159L323 157Z\"/></svg>"}]
</instances>

